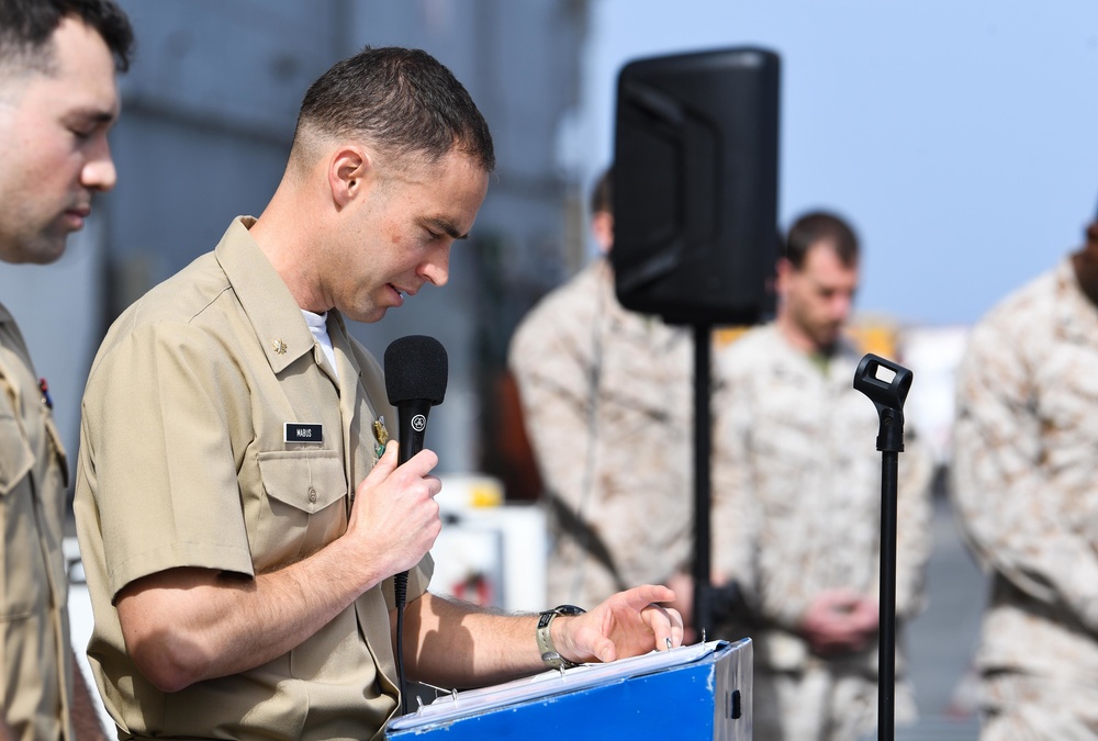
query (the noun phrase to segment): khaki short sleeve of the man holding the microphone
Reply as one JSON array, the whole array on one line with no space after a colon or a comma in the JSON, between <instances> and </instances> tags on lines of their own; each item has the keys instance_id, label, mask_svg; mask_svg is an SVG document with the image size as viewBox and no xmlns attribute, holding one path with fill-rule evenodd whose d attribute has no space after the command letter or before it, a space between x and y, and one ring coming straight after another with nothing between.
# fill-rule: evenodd
<instances>
[{"instance_id":1,"label":"khaki short sleeve of the man holding the microphone","mask_svg":"<svg viewBox=\"0 0 1098 741\"><path fill-rule=\"evenodd\" d=\"M238 371L186 325L144 327L101 359L85 394L112 598L177 566L253 575L228 409ZM239 424L239 419L236 419Z\"/></svg>"}]
</instances>

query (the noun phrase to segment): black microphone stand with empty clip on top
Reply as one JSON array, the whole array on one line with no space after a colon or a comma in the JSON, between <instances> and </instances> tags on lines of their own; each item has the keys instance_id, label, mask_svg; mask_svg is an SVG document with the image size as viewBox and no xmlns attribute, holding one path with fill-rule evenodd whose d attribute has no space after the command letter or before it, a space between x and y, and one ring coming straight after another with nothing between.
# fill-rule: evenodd
<instances>
[{"instance_id":1,"label":"black microphone stand with empty clip on top","mask_svg":"<svg viewBox=\"0 0 1098 741\"><path fill-rule=\"evenodd\" d=\"M882 379L881 369L885 369ZM890 373L890 375L889 375ZM881 585L877 663L877 739L896 734L896 520L899 453L904 451L904 402L911 389L911 371L869 353L854 371L854 389L877 408L881 427Z\"/></svg>"}]
</instances>

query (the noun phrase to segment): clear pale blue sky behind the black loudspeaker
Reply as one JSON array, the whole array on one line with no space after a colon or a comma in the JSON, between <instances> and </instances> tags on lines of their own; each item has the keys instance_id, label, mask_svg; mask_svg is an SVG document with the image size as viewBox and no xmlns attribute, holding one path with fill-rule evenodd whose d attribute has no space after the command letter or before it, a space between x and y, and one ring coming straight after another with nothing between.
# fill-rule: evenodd
<instances>
[{"instance_id":1,"label":"clear pale blue sky behind the black loudspeaker","mask_svg":"<svg viewBox=\"0 0 1098 741\"><path fill-rule=\"evenodd\" d=\"M967 324L1080 244L1098 2L596 0L572 167L609 161L624 64L744 45L782 57L781 224L851 220L859 308Z\"/></svg>"}]
</instances>

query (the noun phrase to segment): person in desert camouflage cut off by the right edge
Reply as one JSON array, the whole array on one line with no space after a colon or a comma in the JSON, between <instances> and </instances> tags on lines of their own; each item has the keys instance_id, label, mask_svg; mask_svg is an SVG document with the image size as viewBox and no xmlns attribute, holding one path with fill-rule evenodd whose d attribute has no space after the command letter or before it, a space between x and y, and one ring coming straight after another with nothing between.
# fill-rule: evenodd
<instances>
[{"instance_id":1,"label":"person in desert camouflage cut off by the right edge","mask_svg":"<svg viewBox=\"0 0 1098 741\"><path fill-rule=\"evenodd\" d=\"M1098 222L993 308L957 374L952 495L990 575L985 741L1098 739Z\"/></svg>"}]
</instances>

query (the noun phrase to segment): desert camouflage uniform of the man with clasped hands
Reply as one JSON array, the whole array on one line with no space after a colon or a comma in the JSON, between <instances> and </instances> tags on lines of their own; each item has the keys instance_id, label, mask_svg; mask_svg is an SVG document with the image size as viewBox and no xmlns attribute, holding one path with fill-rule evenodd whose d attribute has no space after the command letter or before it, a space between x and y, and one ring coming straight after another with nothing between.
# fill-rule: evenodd
<instances>
[{"instance_id":1,"label":"desert camouflage uniform of the man with clasped hands","mask_svg":"<svg viewBox=\"0 0 1098 741\"><path fill-rule=\"evenodd\" d=\"M873 402L853 389L862 353L826 364L773 324L717 357L714 568L735 580L744 615L722 637L755 643L757 738L853 739L876 717L877 643L827 656L796 632L813 598L850 588L877 599L882 454ZM915 379L910 394L918 394ZM905 426L898 457L898 633L923 604L933 461ZM914 719L898 642L896 719ZM765 695L766 697L762 697ZM768 734L761 734L763 731Z\"/></svg>"}]
</instances>

